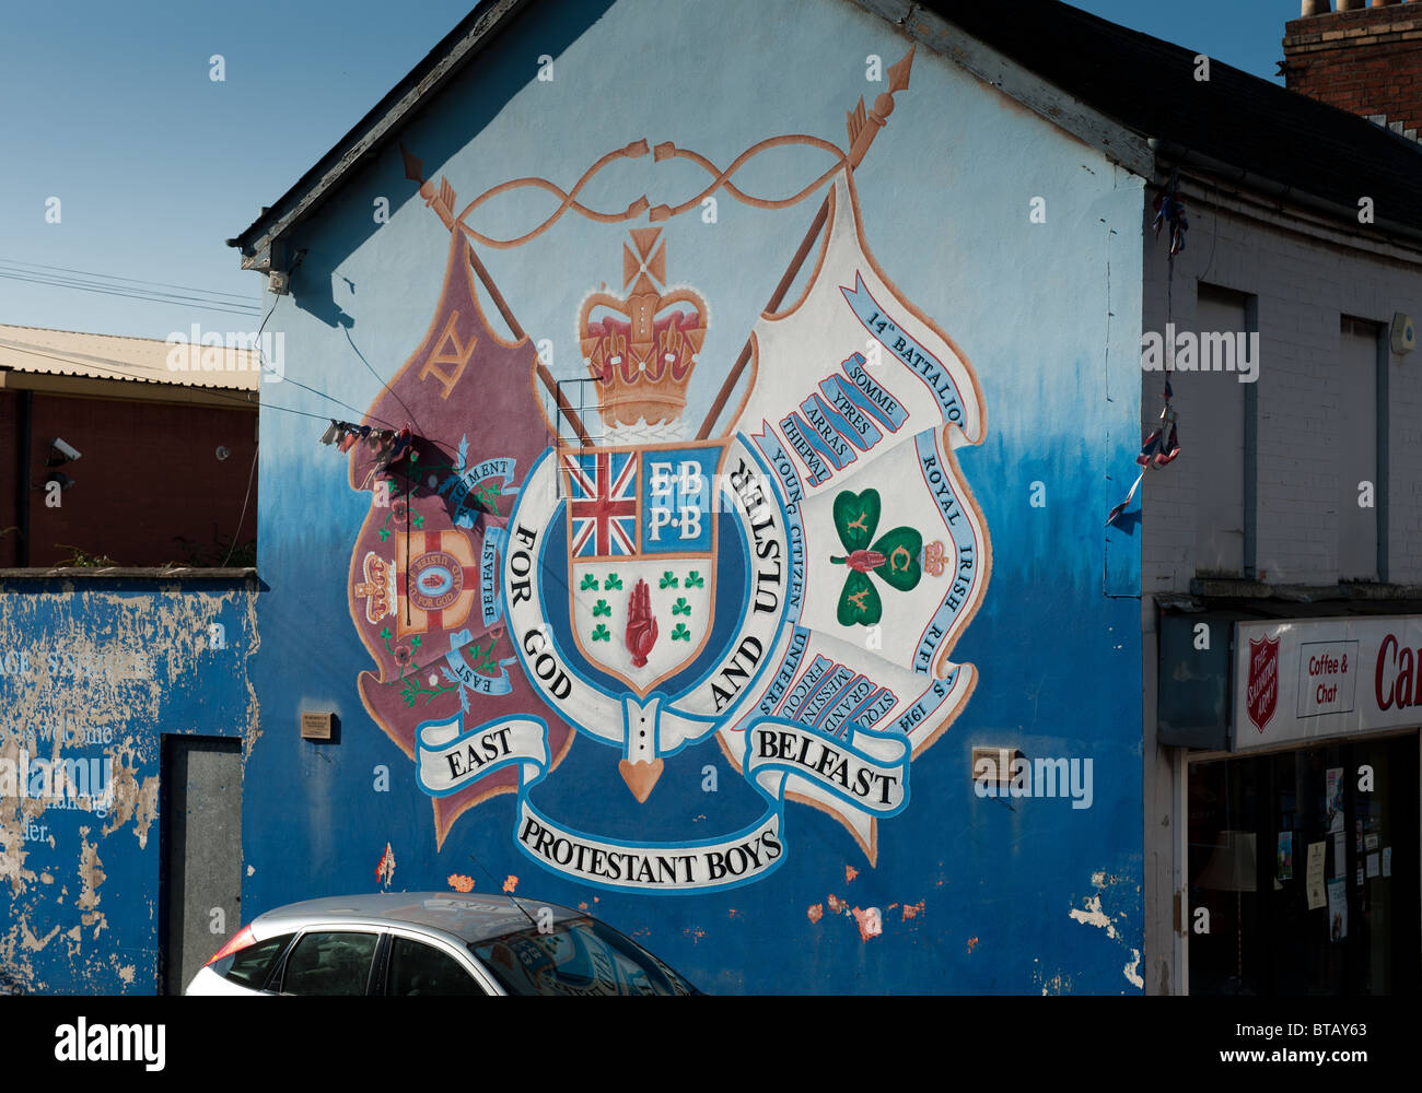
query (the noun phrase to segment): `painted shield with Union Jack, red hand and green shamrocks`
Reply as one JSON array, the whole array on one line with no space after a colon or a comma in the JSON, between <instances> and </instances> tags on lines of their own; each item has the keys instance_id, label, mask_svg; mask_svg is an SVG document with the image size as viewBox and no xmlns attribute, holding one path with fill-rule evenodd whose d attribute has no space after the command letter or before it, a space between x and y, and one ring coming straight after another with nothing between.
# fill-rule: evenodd
<instances>
[{"instance_id":1,"label":"painted shield with Union Jack, red hand and green shamrocks","mask_svg":"<svg viewBox=\"0 0 1422 1093\"><path fill-rule=\"evenodd\" d=\"M711 632L724 453L721 442L559 451L573 635L638 698Z\"/></svg>"}]
</instances>

